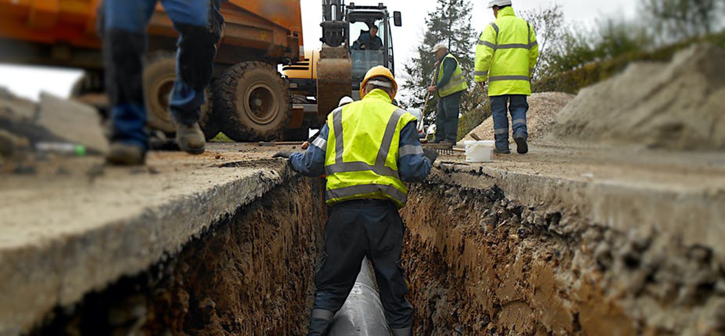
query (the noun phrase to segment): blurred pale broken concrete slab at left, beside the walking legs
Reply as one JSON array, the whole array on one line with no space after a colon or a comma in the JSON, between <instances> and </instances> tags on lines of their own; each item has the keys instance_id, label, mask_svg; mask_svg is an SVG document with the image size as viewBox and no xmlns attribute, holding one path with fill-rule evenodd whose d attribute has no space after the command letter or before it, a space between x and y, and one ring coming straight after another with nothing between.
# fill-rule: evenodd
<instances>
[{"instance_id":1,"label":"blurred pale broken concrete slab at left, beside the walking legs","mask_svg":"<svg viewBox=\"0 0 725 336\"><path fill-rule=\"evenodd\" d=\"M41 93L38 125L67 142L86 146L90 151L100 154L108 151L101 116L93 107L78 101Z\"/></svg>"}]
</instances>

